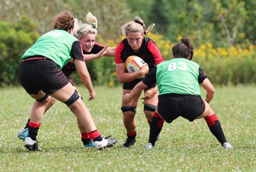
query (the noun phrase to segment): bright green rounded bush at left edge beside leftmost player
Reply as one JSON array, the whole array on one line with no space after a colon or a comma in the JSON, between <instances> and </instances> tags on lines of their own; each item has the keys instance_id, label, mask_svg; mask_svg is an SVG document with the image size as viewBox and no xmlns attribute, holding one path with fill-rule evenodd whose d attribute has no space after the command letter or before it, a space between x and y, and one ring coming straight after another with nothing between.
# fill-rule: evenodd
<instances>
[{"instance_id":1,"label":"bright green rounded bush at left edge beside leftmost player","mask_svg":"<svg viewBox=\"0 0 256 172\"><path fill-rule=\"evenodd\" d=\"M0 22L0 86L17 83L20 58L39 36L35 28L28 18L16 24Z\"/></svg>"}]
</instances>

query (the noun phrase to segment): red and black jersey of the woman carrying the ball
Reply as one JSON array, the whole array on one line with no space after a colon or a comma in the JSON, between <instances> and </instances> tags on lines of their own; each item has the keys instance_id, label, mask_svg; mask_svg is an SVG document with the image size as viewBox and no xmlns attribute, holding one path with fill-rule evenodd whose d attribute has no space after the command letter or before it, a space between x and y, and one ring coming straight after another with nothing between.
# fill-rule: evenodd
<instances>
[{"instance_id":1,"label":"red and black jersey of the woman carrying the ball","mask_svg":"<svg viewBox=\"0 0 256 172\"><path fill-rule=\"evenodd\" d=\"M164 61L164 58L161 55L156 43L154 43L152 39L144 37L140 50L138 52L134 52L134 50L130 47L127 38L125 38L116 47L116 64L124 63L131 55L141 57L141 59L148 64L149 72L148 75L143 78L142 82L145 83L145 85L150 85L152 82L156 83L156 66ZM129 83L124 83L124 86L125 85L129 85Z\"/></svg>"}]
</instances>

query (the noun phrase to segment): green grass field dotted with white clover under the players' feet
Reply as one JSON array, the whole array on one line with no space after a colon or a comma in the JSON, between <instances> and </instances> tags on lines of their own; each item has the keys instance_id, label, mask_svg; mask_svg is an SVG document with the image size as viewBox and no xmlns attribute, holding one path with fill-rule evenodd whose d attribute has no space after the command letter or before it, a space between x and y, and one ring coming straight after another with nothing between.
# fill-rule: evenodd
<instances>
[{"instance_id":1,"label":"green grass field dotted with white clover under the players' feet","mask_svg":"<svg viewBox=\"0 0 256 172\"><path fill-rule=\"evenodd\" d=\"M136 115L137 142L122 148L122 88L95 87L97 97L90 102L87 90L78 89L100 133L118 138L118 144L104 151L83 148L75 116L56 103L38 133L43 151L29 152L17 133L26 124L33 99L22 88L0 88L0 171L256 171L255 85L215 88L211 107L233 150L221 147L204 119L184 118L165 123L156 147L145 150L149 127L142 101Z\"/></svg>"}]
</instances>

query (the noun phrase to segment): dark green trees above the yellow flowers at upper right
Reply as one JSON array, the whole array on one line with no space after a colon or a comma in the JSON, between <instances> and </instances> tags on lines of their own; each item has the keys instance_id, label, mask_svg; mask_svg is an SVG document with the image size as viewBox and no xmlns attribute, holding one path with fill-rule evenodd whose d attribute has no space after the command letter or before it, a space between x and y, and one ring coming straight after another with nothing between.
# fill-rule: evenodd
<instances>
[{"instance_id":1,"label":"dark green trees above the yellow flowers at upper right","mask_svg":"<svg viewBox=\"0 0 256 172\"><path fill-rule=\"evenodd\" d=\"M250 4L255 7L252 1ZM209 41L218 47L244 43L248 9L253 11L246 2L239 0L159 0L152 6L149 18L166 39L177 41L179 36L189 37L196 45ZM253 12L249 14L255 16ZM252 26L248 31L253 39L255 22L254 19L249 22Z\"/></svg>"}]
</instances>

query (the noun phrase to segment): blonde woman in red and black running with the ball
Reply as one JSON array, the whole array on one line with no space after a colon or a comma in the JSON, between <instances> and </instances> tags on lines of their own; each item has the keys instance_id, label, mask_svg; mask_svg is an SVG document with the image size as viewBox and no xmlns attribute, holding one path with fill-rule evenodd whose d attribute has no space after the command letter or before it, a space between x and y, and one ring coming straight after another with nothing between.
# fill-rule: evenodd
<instances>
[{"instance_id":1,"label":"blonde woman in red and black running with the ball","mask_svg":"<svg viewBox=\"0 0 256 172\"><path fill-rule=\"evenodd\" d=\"M144 99L144 113L149 124L156 110L158 90L154 78L156 77L156 65L163 62L164 58L156 43L145 36L153 27L154 24L145 29L145 24L140 17L127 22L122 26L122 34L126 38L116 47L116 76L118 81L123 83L123 96L131 93L134 89L139 90L134 94L136 96L129 97L131 102L122 102L121 110L127 134L127 139L122 145L125 148L131 147L136 142L136 107L143 90L144 92L154 90L154 95L144 94L141 98ZM135 73L128 73L125 69L125 61L131 55L141 57L146 62L141 66L141 70ZM140 76L145 74L147 74L145 78L140 79Z\"/></svg>"}]
</instances>

